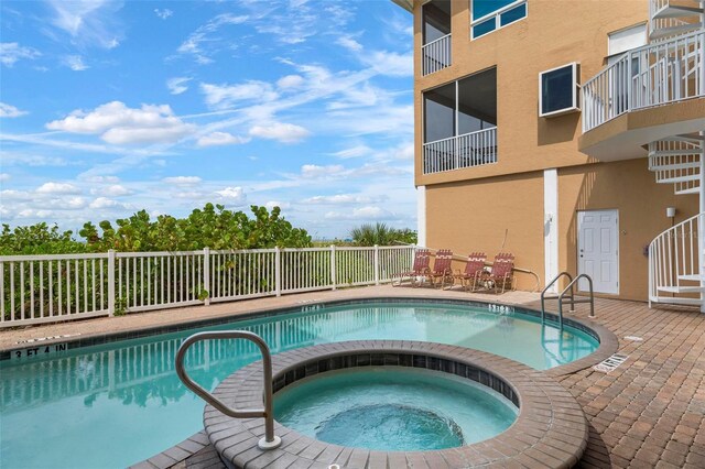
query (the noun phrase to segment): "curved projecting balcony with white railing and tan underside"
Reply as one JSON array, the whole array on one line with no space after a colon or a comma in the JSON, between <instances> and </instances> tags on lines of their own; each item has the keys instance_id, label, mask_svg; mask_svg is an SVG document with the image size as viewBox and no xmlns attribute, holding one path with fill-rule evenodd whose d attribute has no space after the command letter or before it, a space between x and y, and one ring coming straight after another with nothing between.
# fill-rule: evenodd
<instances>
[{"instance_id":1,"label":"curved projecting balcony with white railing and tan underside","mask_svg":"<svg viewBox=\"0 0 705 469\"><path fill-rule=\"evenodd\" d=\"M644 156L642 145L705 127L705 31L633 48L583 85L583 153Z\"/></svg>"}]
</instances>

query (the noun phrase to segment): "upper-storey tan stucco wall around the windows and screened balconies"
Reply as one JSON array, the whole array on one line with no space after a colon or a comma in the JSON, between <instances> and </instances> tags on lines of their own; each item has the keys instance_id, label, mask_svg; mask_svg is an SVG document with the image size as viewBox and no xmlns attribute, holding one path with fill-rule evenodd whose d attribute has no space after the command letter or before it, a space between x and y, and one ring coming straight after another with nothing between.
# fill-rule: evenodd
<instances>
[{"instance_id":1,"label":"upper-storey tan stucco wall around the windows and screened balconies","mask_svg":"<svg viewBox=\"0 0 705 469\"><path fill-rule=\"evenodd\" d=\"M528 17L470 41L469 0L452 3L452 61L421 76L421 2L414 4L416 185L582 165L581 113L539 118L539 73L581 63L582 83L605 64L607 33L644 22L647 0L529 0ZM422 91L497 66L498 163L423 175Z\"/></svg>"}]
</instances>

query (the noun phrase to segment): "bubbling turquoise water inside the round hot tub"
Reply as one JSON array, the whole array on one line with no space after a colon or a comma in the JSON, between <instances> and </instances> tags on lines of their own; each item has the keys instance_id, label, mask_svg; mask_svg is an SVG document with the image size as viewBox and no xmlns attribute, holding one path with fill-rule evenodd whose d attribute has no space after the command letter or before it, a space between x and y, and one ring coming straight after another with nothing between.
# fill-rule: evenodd
<instances>
[{"instance_id":1,"label":"bubbling turquoise water inside the round hot tub","mask_svg":"<svg viewBox=\"0 0 705 469\"><path fill-rule=\"evenodd\" d=\"M322 441L379 451L455 448L511 426L518 408L470 380L430 370L327 372L274 395L274 418Z\"/></svg>"}]
</instances>

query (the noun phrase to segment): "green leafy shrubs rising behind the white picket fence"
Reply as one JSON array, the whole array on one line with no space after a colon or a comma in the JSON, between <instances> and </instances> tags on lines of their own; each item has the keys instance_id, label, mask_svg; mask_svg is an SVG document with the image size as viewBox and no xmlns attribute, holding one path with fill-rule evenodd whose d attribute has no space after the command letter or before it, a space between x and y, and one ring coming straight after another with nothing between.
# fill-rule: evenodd
<instances>
[{"instance_id":1,"label":"green leafy shrubs rising behind the white picket fence","mask_svg":"<svg viewBox=\"0 0 705 469\"><path fill-rule=\"evenodd\" d=\"M32 226L10 228L2 225L0 255L66 254L106 252L195 251L204 248L267 249L308 248L312 238L303 228L292 226L281 215L279 207L251 206L251 217L243 211L232 211L218 204L206 204L187 217L160 215L152 218L140 210L129 218L116 220L115 226L104 220L94 225L87 221L78 231L39 222ZM394 229L384 223L362 225L350 230L352 246L414 244L416 232Z\"/></svg>"}]
</instances>

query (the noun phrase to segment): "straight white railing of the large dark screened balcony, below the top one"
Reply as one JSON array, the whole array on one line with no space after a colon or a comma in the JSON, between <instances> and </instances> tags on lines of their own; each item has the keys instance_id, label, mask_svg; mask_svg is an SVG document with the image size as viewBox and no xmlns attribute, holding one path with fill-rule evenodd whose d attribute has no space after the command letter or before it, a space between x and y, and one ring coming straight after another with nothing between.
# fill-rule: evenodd
<instances>
[{"instance_id":1,"label":"straight white railing of the large dark screened balcony, below the top one","mask_svg":"<svg viewBox=\"0 0 705 469\"><path fill-rule=\"evenodd\" d=\"M423 174L497 163L497 128L423 145Z\"/></svg>"}]
</instances>

